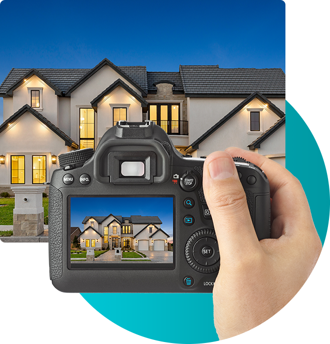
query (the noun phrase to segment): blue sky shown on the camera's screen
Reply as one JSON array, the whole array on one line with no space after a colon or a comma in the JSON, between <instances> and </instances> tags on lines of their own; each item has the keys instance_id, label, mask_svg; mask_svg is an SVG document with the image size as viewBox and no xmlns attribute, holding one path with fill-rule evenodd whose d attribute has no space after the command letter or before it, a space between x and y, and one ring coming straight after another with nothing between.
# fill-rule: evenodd
<instances>
[{"instance_id":1,"label":"blue sky shown on the camera's screen","mask_svg":"<svg viewBox=\"0 0 330 344\"><path fill-rule=\"evenodd\" d=\"M86 216L158 216L160 227L173 236L172 197L71 197L71 226L84 230ZM149 224L149 223L147 223ZM156 224L159 227L158 224Z\"/></svg>"}]
</instances>

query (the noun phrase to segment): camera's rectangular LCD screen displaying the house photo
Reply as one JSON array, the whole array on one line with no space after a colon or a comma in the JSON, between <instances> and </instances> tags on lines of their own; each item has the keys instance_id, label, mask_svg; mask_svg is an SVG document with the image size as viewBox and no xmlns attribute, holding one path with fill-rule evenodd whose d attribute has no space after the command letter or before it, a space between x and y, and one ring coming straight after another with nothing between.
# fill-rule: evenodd
<instances>
[{"instance_id":1,"label":"camera's rectangular LCD screen displaying the house photo","mask_svg":"<svg viewBox=\"0 0 330 344\"><path fill-rule=\"evenodd\" d=\"M172 196L69 197L70 268L173 268L173 208Z\"/></svg>"}]
</instances>

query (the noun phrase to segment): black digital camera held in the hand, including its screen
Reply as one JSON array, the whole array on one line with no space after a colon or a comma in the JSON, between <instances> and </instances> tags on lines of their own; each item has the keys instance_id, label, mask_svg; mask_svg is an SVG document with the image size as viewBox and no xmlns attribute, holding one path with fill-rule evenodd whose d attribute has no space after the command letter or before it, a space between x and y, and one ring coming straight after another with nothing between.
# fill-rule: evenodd
<instances>
[{"instance_id":1,"label":"black digital camera held in the hand, including its screen","mask_svg":"<svg viewBox=\"0 0 330 344\"><path fill-rule=\"evenodd\" d=\"M95 153L61 154L49 191L53 285L63 292L212 292L220 254L204 160L179 153L152 121L120 121ZM267 177L234 161L256 235L268 238ZM83 253L71 253L79 239Z\"/></svg>"}]
</instances>

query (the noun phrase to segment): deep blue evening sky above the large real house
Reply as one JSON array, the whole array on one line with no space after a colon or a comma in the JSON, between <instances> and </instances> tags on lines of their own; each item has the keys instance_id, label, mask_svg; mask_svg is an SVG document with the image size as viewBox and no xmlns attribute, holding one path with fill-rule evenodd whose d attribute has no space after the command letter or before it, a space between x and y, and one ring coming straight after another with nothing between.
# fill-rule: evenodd
<instances>
[{"instance_id":1,"label":"deep blue evening sky above the large real house","mask_svg":"<svg viewBox=\"0 0 330 344\"><path fill-rule=\"evenodd\" d=\"M148 71L219 64L285 72L282 0L3 0L0 18L0 83L13 67L93 68L105 57Z\"/></svg>"}]
</instances>

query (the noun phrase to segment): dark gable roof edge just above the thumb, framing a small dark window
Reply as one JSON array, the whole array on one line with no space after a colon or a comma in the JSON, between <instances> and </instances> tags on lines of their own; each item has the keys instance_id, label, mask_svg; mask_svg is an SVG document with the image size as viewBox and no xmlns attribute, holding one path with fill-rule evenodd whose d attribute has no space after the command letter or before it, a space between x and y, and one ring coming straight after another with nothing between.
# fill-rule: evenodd
<instances>
[{"instance_id":1,"label":"dark gable roof edge just above the thumb, framing a small dark window","mask_svg":"<svg viewBox=\"0 0 330 344\"><path fill-rule=\"evenodd\" d=\"M210 136L214 131L219 129L224 123L226 123L232 116L239 112L245 105L247 105L254 98L260 99L263 103L268 105L275 114L280 118L285 116L285 113L280 110L276 105L274 105L269 99L267 99L263 94L258 91L250 94L246 99L240 102L236 107L234 107L230 112L223 116L217 123L211 126L207 131L205 131L201 136L199 136L193 143L191 143L185 150L191 152L194 149L198 149L200 143L202 143L208 136ZM251 148L253 149L253 148Z\"/></svg>"}]
</instances>

